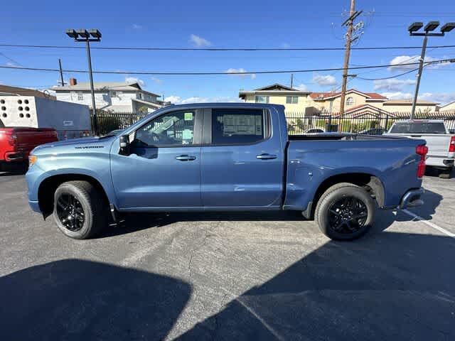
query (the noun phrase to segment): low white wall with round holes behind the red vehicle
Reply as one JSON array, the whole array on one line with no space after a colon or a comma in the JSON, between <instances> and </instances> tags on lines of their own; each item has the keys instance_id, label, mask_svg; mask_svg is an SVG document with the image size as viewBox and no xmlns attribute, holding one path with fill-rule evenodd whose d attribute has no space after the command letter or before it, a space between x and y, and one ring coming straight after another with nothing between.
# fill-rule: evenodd
<instances>
[{"instance_id":1,"label":"low white wall with round holes behind the red vehicle","mask_svg":"<svg viewBox=\"0 0 455 341\"><path fill-rule=\"evenodd\" d=\"M0 119L5 126L54 128L58 131L90 131L90 111L86 105L43 97L0 97Z\"/></svg>"}]
</instances>

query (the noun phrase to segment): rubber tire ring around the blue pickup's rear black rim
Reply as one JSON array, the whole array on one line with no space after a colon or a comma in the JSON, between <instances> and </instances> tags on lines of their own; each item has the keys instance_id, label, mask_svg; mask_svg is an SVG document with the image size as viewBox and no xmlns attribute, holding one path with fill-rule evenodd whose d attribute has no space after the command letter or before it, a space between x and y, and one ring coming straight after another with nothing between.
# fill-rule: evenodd
<instances>
[{"instance_id":1,"label":"rubber tire ring around the blue pickup's rear black rim","mask_svg":"<svg viewBox=\"0 0 455 341\"><path fill-rule=\"evenodd\" d=\"M365 207L367 207L368 215L365 224L363 225L362 228L360 228L356 232L353 232L352 234L342 234L336 232L334 229L330 227L330 223L328 220L328 208L331 206L333 202L336 202L342 199L343 197L355 197L356 199L362 201ZM323 234L326 234L326 236L328 236L329 238L336 240L352 240L361 237L363 234L365 234L365 232L368 231L368 229L370 229L375 220L375 211L376 211L375 201L370 197L370 195L365 190L358 187L343 187L333 190L332 193L329 193L326 197L323 198L323 201L321 202L321 205L317 212L317 220L319 228L321 229Z\"/></svg>"}]
</instances>

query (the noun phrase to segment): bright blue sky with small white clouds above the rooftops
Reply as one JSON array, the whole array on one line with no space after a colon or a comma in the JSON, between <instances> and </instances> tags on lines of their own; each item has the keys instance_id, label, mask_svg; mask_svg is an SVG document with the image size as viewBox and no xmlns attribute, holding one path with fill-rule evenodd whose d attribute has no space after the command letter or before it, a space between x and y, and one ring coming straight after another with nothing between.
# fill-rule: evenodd
<instances>
[{"instance_id":1,"label":"bright blue sky with small white clouds above the rooftops","mask_svg":"<svg viewBox=\"0 0 455 341\"><path fill-rule=\"evenodd\" d=\"M343 28L349 1L4 1L0 43L73 45L66 28L99 28L100 46L151 47L343 47ZM453 0L357 1L367 15L363 35L356 46L421 45L410 37L413 21L455 21ZM372 13L370 13L372 12ZM455 45L455 30L429 45ZM0 47L0 65L85 69L85 50L51 50ZM420 50L354 50L351 66L389 64L410 60ZM455 48L427 50L429 58L455 58ZM7 58L6 58L7 57ZM9 58L9 59L8 59ZM14 61L13 61L14 60ZM417 59L411 60L417 61ZM279 52L163 52L92 50L94 70L122 71L217 71L292 70L341 67L343 51ZM394 69L355 71L359 77L389 77L404 72ZM455 100L455 64L427 67L422 77L422 99ZM354 72L354 71L353 71ZM352 72L351 72L352 73ZM65 73L65 79L86 75ZM128 77L128 76L127 76ZM129 77L137 77L129 75ZM146 90L174 102L231 101L240 89L250 90L274 82L289 85L290 75L140 76ZM124 81L122 75L95 75L96 81ZM415 73L385 81L350 80L348 87L375 91L392 98L414 92ZM56 85L54 72L0 69L0 82L42 89ZM311 91L339 89L341 72L310 72L294 75L294 85Z\"/></svg>"}]
</instances>

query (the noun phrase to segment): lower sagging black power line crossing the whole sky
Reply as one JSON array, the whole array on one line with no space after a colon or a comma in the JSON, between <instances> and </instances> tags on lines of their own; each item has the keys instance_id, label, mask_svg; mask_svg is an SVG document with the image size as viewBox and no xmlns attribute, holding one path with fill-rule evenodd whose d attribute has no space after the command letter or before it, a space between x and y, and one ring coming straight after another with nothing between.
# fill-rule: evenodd
<instances>
[{"instance_id":1,"label":"lower sagging black power line crossing the whole sky","mask_svg":"<svg viewBox=\"0 0 455 341\"><path fill-rule=\"evenodd\" d=\"M455 63L455 58L432 60L424 62L425 65L438 64L438 63ZM406 66L406 65L419 65L419 63L401 63L397 65L382 64L382 65L365 65L348 67L348 70L363 70L373 69L390 66ZM48 71L48 72L60 72L60 69L48 69L45 67L16 67L16 66L5 66L0 65L2 69L12 70L28 70L28 71ZM252 74L276 74L276 73L303 73L303 72L328 72L328 71L340 71L345 70L343 67L331 67L326 69L304 69L304 70L268 70L268 71L237 71L237 72L161 72L161 71L93 71L97 74L108 74L108 75L181 75L181 76L193 76L193 75L252 75ZM72 73L88 73L87 70L63 70L63 72Z\"/></svg>"}]
</instances>

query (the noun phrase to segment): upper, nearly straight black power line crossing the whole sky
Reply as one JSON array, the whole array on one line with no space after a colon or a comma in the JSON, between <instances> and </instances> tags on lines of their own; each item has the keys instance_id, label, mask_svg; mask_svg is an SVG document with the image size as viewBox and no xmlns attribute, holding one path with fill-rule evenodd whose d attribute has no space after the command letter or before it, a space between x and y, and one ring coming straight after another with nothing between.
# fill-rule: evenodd
<instances>
[{"instance_id":1,"label":"upper, nearly straight black power line crossing the whole sky","mask_svg":"<svg viewBox=\"0 0 455 341\"><path fill-rule=\"evenodd\" d=\"M83 46L73 45L16 45L0 44L6 48L68 48L84 49ZM412 50L422 46L370 46L353 47L351 50ZM455 48L455 45L434 45L428 48ZM123 47L123 46L93 46L92 50L149 50L149 51L340 51L345 48L156 48L156 47Z\"/></svg>"}]
</instances>

